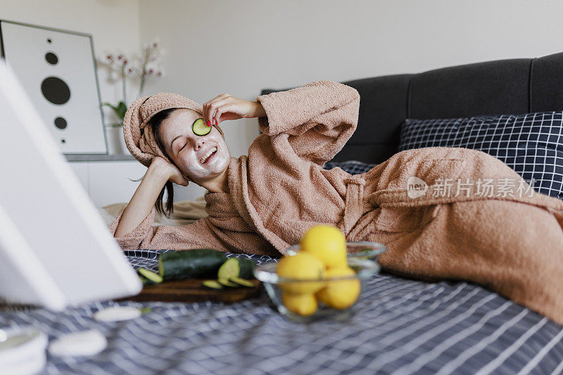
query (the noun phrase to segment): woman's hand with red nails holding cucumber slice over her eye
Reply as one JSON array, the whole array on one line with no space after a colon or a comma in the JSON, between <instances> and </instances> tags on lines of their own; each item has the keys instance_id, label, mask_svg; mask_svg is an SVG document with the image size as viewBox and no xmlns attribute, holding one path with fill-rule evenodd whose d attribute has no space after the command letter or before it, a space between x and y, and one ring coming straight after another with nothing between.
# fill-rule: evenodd
<instances>
[{"instance_id":1,"label":"woman's hand with red nails holding cucumber slice over her eye","mask_svg":"<svg viewBox=\"0 0 563 375\"><path fill-rule=\"evenodd\" d=\"M217 125L224 120L238 120L265 116L266 112L259 101L246 101L230 94L215 96L203 103L205 125Z\"/></svg>"}]
</instances>

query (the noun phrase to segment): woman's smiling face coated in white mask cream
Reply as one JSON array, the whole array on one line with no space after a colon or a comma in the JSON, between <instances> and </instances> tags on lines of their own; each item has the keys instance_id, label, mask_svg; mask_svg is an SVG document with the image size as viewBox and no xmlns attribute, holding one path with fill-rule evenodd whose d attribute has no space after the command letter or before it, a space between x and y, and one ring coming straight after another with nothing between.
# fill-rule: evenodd
<instances>
[{"instance_id":1,"label":"woman's smiling face coated in white mask cream","mask_svg":"<svg viewBox=\"0 0 563 375\"><path fill-rule=\"evenodd\" d=\"M192 131L192 125L201 114L195 110L179 108L160 125L160 139L167 155L174 161L184 175L194 182L201 182L219 176L229 166L231 153L216 127L203 136ZM217 151L201 163L208 151Z\"/></svg>"}]
</instances>

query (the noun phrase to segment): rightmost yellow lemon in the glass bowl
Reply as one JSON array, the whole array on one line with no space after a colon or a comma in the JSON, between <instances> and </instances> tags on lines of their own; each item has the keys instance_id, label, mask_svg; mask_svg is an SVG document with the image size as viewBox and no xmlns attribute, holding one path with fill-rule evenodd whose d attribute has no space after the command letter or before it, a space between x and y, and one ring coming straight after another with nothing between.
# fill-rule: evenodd
<instances>
[{"instance_id":1,"label":"rightmost yellow lemon in the glass bowl","mask_svg":"<svg viewBox=\"0 0 563 375\"><path fill-rule=\"evenodd\" d=\"M355 272L350 267L336 267L327 269L324 277L355 276ZM360 296L360 279L348 279L339 281L326 281L326 286L315 295L324 305L336 309L346 309L353 305Z\"/></svg>"}]
</instances>

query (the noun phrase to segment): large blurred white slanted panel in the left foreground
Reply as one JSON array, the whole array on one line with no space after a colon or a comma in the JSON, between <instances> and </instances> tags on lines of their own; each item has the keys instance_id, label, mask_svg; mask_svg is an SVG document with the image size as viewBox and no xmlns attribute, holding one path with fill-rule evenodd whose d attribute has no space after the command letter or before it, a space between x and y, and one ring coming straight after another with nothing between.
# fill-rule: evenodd
<instances>
[{"instance_id":1,"label":"large blurred white slanted panel in the left foreground","mask_svg":"<svg viewBox=\"0 0 563 375\"><path fill-rule=\"evenodd\" d=\"M1 58L0 129L0 297L61 310L139 293L139 277Z\"/></svg>"}]
</instances>

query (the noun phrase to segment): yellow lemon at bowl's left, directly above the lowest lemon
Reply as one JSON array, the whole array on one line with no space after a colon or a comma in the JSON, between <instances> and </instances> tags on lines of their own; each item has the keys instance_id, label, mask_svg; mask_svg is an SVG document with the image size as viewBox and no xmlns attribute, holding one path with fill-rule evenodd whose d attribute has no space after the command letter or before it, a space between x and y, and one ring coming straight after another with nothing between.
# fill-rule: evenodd
<instances>
[{"instance_id":1,"label":"yellow lemon at bowl's left, directly above the lowest lemon","mask_svg":"<svg viewBox=\"0 0 563 375\"><path fill-rule=\"evenodd\" d=\"M297 253L281 258L277 263L276 272L279 277L304 280L280 282L280 288L286 293L315 293L324 286L323 281L315 281L322 279L324 265L314 255Z\"/></svg>"}]
</instances>

